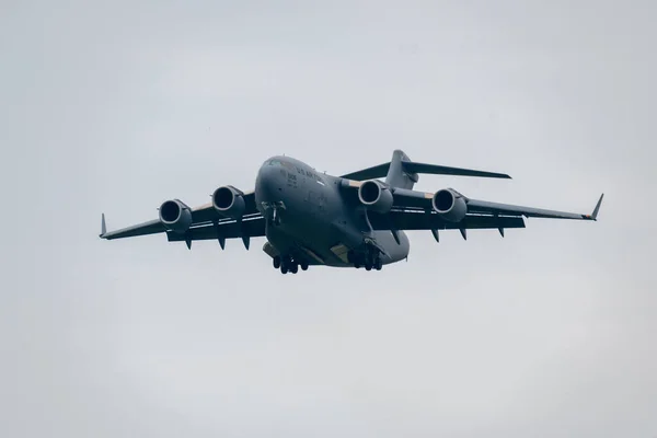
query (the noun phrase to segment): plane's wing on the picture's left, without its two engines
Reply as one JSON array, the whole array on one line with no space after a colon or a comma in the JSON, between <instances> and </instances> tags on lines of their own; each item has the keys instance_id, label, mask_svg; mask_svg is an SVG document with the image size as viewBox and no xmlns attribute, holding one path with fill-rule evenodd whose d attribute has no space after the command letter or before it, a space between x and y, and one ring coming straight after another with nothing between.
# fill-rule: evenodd
<instances>
[{"instance_id":1,"label":"plane's wing on the picture's left, without its two engines","mask_svg":"<svg viewBox=\"0 0 657 438\"><path fill-rule=\"evenodd\" d=\"M244 210L244 218L243 218L244 232L242 233L242 237L262 235L262 234L251 234L253 232L256 232L257 230L254 228L254 226L245 226L245 223L250 220L255 220L258 218L262 219L262 215L255 208L254 194L247 193L247 194L244 194L243 196L244 196L245 210ZM150 220L148 222L142 222L142 223L139 223L136 226L126 227L126 228L115 230L115 231L107 231L106 224L105 224L105 215L103 215L102 231L101 231L100 237L102 239L113 240L113 239L134 238L134 237L138 237L138 235L148 235L148 234L166 232L170 241L174 241L174 239L172 237L170 237L169 234L180 235L181 239L178 239L178 240L186 241L186 240L188 240L187 238L189 235L195 235L198 233L198 231L195 231L198 229L198 227L210 226L214 229L215 223L217 223L219 229L222 230L221 233L226 234L226 237L224 237L226 239L239 237L239 235L237 235L237 231L235 231L237 221L231 218L222 216L219 211L217 211L215 208L212 208L211 204L205 204L199 207L191 208L191 212L192 212L192 224L191 224L189 230L187 230L187 232L185 232L185 233L176 233L176 232L168 231L166 228L162 224L162 222L160 222L159 219ZM215 234L215 238L217 238L217 234ZM195 240L195 239L192 239L192 240Z\"/></svg>"}]
</instances>

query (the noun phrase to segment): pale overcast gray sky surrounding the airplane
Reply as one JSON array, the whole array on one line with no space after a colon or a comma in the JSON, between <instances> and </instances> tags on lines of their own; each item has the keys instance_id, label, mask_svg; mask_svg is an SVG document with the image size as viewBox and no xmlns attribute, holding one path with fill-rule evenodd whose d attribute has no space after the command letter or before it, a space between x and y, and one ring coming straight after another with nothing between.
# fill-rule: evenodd
<instances>
[{"instance_id":1,"label":"pale overcast gray sky surrounding the airplane","mask_svg":"<svg viewBox=\"0 0 657 438\"><path fill-rule=\"evenodd\" d=\"M4 1L3 437L655 437L654 1ZM380 273L105 242L293 155L589 212Z\"/></svg>"}]
</instances>

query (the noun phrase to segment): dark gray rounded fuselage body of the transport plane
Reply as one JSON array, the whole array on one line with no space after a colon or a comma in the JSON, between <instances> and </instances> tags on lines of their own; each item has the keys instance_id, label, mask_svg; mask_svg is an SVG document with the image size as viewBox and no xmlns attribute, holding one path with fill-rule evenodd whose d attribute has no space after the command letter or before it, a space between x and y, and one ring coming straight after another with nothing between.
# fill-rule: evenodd
<instances>
[{"instance_id":1,"label":"dark gray rounded fuselage body of the transport plane","mask_svg":"<svg viewBox=\"0 0 657 438\"><path fill-rule=\"evenodd\" d=\"M267 219L266 238L278 254L307 260L309 265L347 267L346 249L364 247L372 239L383 249L382 264L406 258L408 238L399 231L370 231L364 210L349 205L341 178L319 173L290 157L273 157L258 170L255 204Z\"/></svg>"}]
</instances>

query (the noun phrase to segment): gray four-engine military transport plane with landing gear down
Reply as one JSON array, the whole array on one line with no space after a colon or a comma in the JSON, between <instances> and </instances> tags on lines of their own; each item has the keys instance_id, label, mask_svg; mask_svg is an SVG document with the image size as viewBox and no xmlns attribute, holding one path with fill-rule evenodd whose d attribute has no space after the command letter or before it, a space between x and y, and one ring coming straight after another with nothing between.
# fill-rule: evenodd
<instances>
[{"instance_id":1,"label":"gray four-engine military transport plane with landing gear down","mask_svg":"<svg viewBox=\"0 0 657 438\"><path fill-rule=\"evenodd\" d=\"M471 199L453 188L418 192L418 174L510 178L509 175L411 161L395 150L390 162L342 176L319 173L290 157L273 157L257 172L255 189L231 185L217 188L211 201L192 208L180 199L165 200L159 219L107 232L103 239L122 239L165 232L170 242L266 237L263 251L283 274L312 265L365 267L407 258L408 238L403 230L459 230L525 228L523 217L596 220L602 196L590 215L544 210ZM380 178L385 177L384 181Z\"/></svg>"}]
</instances>

